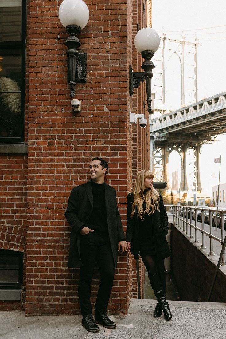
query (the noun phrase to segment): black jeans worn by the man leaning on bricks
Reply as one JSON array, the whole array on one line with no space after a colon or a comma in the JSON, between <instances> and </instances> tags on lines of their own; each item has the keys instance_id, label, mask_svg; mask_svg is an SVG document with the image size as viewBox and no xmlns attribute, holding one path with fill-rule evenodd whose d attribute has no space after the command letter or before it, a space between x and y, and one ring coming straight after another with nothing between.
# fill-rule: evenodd
<instances>
[{"instance_id":1,"label":"black jeans worn by the man leaning on bricks","mask_svg":"<svg viewBox=\"0 0 226 339\"><path fill-rule=\"evenodd\" d=\"M94 266L97 261L100 269L100 286L96 300L96 311L106 313L111 289L114 281L115 265L108 233L98 231L80 235L81 261L79 279L79 302L81 314L92 313L90 302L90 285L93 279Z\"/></svg>"}]
</instances>

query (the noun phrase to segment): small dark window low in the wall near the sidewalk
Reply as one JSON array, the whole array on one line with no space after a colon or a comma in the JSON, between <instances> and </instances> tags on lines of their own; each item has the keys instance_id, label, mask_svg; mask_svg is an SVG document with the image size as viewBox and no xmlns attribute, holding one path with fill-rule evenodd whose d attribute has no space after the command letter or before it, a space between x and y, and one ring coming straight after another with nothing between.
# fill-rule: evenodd
<instances>
[{"instance_id":1,"label":"small dark window low in the wall near the sidewalk","mask_svg":"<svg viewBox=\"0 0 226 339\"><path fill-rule=\"evenodd\" d=\"M21 288L23 277L23 253L0 250L0 289Z\"/></svg>"}]
</instances>

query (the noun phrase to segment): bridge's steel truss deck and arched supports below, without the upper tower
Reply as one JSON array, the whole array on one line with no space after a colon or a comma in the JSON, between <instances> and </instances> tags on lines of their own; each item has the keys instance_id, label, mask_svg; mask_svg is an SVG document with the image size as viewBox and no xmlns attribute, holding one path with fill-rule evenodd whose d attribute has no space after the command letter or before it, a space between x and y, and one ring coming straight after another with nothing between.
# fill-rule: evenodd
<instances>
[{"instance_id":1,"label":"bridge's steel truss deck and arched supports below, without the upper tower","mask_svg":"<svg viewBox=\"0 0 226 339\"><path fill-rule=\"evenodd\" d=\"M159 181L168 182L169 154L176 149L182 159L180 190L187 191L186 151L192 148L196 161L197 191L201 192L200 148L226 133L226 92L196 102L150 121L150 168Z\"/></svg>"}]
</instances>

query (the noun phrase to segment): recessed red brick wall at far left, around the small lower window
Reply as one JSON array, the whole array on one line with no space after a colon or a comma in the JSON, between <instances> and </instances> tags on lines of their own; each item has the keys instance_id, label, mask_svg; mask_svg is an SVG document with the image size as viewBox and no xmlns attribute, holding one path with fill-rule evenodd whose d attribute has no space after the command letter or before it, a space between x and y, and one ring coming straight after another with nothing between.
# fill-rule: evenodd
<instances>
[{"instance_id":1,"label":"recessed red brick wall at far left, around the small lower window","mask_svg":"<svg viewBox=\"0 0 226 339\"><path fill-rule=\"evenodd\" d=\"M27 1L26 32L26 90L24 142L28 136L28 73L29 73L29 22ZM0 248L20 251L24 254L23 293L21 301L0 301L0 310L24 310L26 281L26 233L27 233L27 155L0 154Z\"/></svg>"}]
</instances>

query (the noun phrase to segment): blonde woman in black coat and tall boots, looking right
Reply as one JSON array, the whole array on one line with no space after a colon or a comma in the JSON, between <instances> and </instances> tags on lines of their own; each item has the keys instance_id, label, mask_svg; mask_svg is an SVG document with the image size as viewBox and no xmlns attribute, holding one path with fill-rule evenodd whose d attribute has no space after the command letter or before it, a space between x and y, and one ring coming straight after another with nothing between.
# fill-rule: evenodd
<instances>
[{"instance_id":1,"label":"blonde woman in black coat and tall boots, looking right","mask_svg":"<svg viewBox=\"0 0 226 339\"><path fill-rule=\"evenodd\" d=\"M144 169L138 173L134 190L127 197L126 241L135 259L140 254L147 269L158 300L154 317L160 317L163 311L166 320L172 318L166 301L164 266L164 259L171 253L165 237L168 230L162 197L153 187L153 173Z\"/></svg>"}]
</instances>

